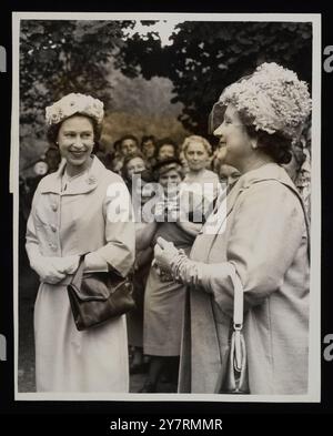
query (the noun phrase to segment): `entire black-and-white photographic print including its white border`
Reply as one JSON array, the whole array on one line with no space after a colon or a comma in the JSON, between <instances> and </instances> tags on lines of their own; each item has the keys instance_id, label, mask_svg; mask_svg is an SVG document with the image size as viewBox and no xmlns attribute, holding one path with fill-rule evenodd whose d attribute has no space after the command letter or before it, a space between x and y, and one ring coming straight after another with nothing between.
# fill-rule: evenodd
<instances>
[{"instance_id":1,"label":"entire black-and-white photographic print including its white border","mask_svg":"<svg viewBox=\"0 0 333 436\"><path fill-rule=\"evenodd\" d=\"M17 400L321 399L321 17L13 12Z\"/></svg>"}]
</instances>

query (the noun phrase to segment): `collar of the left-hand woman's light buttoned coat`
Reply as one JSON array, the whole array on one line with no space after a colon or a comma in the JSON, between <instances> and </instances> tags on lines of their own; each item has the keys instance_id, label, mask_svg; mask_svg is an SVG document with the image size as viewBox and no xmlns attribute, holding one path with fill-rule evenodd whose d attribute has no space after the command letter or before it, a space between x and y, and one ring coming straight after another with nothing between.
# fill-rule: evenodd
<instances>
[{"instance_id":1,"label":"collar of the left-hand woman's light buttoned coat","mask_svg":"<svg viewBox=\"0 0 333 436\"><path fill-rule=\"evenodd\" d=\"M99 181L107 171L102 162L97 156L93 156L92 164L88 173L85 173L84 176L82 175L73 180L69 184L67 191L61 193L61 178L63 175L64 169L65 161L63 160L56 173L49 174L42 179L40 186L40 192L42 194L54 193L59 195L74 195L88 193L98 186Z\"/></svg>"}]
</instances>

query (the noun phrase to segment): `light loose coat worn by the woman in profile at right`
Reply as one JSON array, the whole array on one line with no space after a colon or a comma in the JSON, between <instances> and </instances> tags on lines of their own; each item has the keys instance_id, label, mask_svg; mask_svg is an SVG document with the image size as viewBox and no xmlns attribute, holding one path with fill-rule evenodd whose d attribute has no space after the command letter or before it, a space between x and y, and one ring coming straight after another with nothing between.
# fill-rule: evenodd
<instances>
[{"instance_id":1,"label":"light loose coat worn by the woman in profile at right","mask_svg":"<svg viewBox=\"0 0 333 436\"><path fill-rule=\"evenodd\" d=\"M229 351L232 263L244 290L251 394L305 394L309 236L285 171L270 163L243 174L205 223L191 258L200 261L202 281L188 290L179 391L215 391Z\"/></svg>"}]
</instances>

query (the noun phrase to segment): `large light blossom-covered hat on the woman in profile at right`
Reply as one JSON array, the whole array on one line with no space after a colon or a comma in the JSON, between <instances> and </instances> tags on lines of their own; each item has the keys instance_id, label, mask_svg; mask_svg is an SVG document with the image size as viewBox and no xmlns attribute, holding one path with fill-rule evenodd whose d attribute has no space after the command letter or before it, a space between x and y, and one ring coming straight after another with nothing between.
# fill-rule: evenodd
<instances>
[{"instance_id":1,"label":"large light blossom-covered hat on the woman in profile at right","mask_svg":"<svg viewBox=\"0 0 333 436\"><path fill-rule=\"evenodd\" d=\"M222 92L219 105L233 104L255 130L296 139L311 112L307 83L275 62L263 63L253 74Z\"/></svg>"}]
</instances>

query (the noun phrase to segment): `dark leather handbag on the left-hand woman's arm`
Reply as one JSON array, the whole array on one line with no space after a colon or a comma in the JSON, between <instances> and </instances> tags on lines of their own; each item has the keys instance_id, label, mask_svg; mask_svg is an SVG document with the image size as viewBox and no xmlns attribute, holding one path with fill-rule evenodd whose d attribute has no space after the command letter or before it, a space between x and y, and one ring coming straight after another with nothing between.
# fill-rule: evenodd
<instances>
[{"instance_id":1,"label":"dark leather handbag on the left-hand woman's arm","mask_svg":"<svg viewBox=\"0 0 333 436\"><path fill-rule=\"evenodd\" d=\"M83 274L83 268L84 255L80 256L78 270L67 286L78 331L94 327L134 308L129 277L114 271Z\"/></svg>"}]
</instances>

